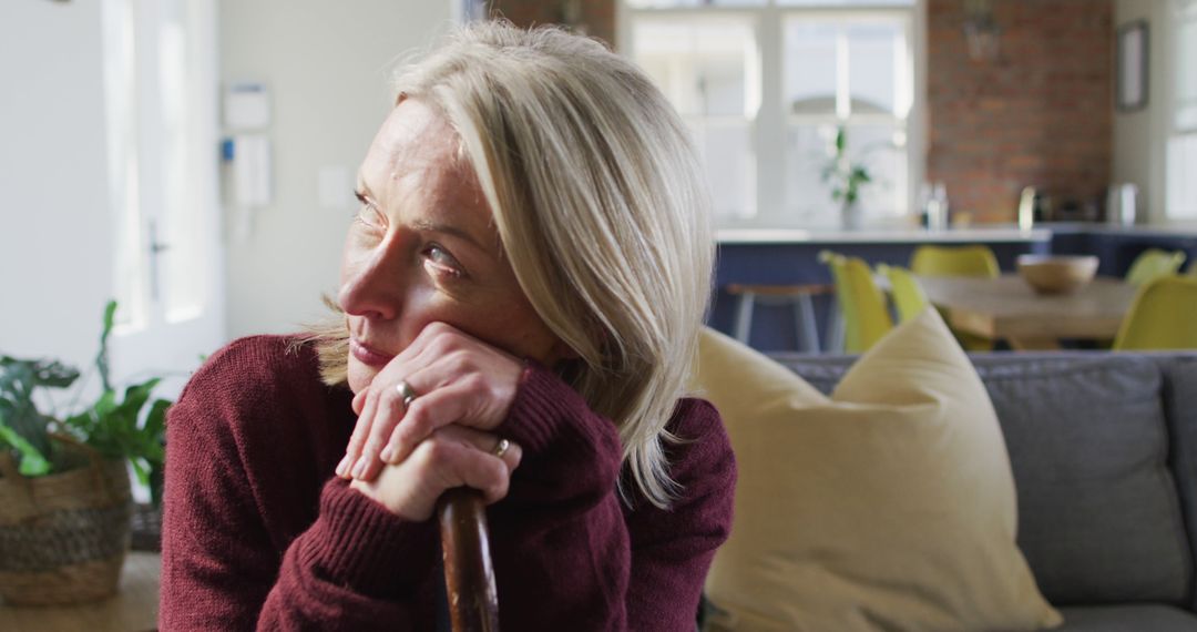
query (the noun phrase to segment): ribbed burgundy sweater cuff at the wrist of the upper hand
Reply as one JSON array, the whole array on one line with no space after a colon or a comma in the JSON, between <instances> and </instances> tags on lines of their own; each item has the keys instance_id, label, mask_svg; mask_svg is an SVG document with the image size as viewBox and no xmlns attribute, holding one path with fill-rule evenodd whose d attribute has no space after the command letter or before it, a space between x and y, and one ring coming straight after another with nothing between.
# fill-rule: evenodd
<instances>
[{"instance_id":1,"label":"ribbed burgundy sweater cuff at the wrist of the upper hand","mask_svg":"<svg viewBox=\"0 0 1197 632\"><path fill-rule=\"evenodd\" d=\"M511 413L496 432L524 450L539 454L554 438L560 438L563 420L575 418L584 409L585 402L577 391L545 366L528 360L516 399L511 402Z\"/></svg>"}]
</instances>

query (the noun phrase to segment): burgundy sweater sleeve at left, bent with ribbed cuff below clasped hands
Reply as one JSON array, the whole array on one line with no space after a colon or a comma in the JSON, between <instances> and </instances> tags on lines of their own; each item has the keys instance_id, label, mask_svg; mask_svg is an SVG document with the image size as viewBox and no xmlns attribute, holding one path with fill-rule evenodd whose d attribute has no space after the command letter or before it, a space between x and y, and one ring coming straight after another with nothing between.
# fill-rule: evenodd
<instances>
[{"instance_id":1,"label":"burgundy sweater sleeve at left, bent with ribbed cuff below clasped hands","mask_svg":"<svg viewBox=\"0 0 1197 632\"><path fill-rule=\"evenodd\" d=\"M239 396L249 389L230 369L198 373L170 411L160 627L415 628L415 592L436 567L432 525L405 522L330 480L316 521L290 543L277 541L255 491L263 468L288 466L243 455L255 454L248 437L278 417L255 402L278 394Z\"/></svg>"}]
</instances>

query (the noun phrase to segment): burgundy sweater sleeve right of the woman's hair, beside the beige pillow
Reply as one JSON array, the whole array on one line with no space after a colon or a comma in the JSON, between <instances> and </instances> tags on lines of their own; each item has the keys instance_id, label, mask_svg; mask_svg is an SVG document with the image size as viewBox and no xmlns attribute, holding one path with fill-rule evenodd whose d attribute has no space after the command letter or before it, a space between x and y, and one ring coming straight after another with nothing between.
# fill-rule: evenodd
<instances>
[{"instance_id":1,"label":"burgundy sweater sleeve right of the woman's hair, beside the beige pillow","mask_svg":"<svg viewBox=\"0 0 1197 632\"><path fill-rule=\"evenodd\" d=\"M681 443L667 451L679 498L669 509L640 500L626 511L628 630L693 631L715 551L731 533L736 464L719 413L706 401L683 400L674 421Z\"/></svg>"}]
</instances>

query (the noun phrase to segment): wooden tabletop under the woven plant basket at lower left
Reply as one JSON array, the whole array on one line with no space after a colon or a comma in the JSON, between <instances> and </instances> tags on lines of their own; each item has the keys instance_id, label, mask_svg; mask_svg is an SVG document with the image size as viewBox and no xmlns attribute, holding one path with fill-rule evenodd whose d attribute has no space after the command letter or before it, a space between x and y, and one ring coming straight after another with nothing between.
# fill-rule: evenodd
<instances>
[{"instance_id":1,"label":"wooden tabletop under the woven plant basket at lower left","mask_svg":"<svg viewBox=\"0 0 1197 632\"><path fill-rule=\"evenodd\" d=\"M120 591L78 606L17 607L0 603L5 632L145 632L158 626L157 553L133 552L121 571Z\"/></svg>"}]
</instances>

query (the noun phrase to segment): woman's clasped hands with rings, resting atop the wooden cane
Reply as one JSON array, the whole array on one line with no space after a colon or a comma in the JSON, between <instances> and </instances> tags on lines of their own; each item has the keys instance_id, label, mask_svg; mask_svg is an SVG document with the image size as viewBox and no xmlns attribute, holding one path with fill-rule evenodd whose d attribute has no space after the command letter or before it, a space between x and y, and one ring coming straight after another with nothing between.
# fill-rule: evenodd
<instances>
[{"instance_id":1,"label":"woman's clasped hands with rings, resting atop the wooden cane","mask_svg":"<svg viewBox=\"0 0 1197 632\"><path fill-rule=\"evenodd\" d=\"M358 423L336 474L413 522L429 519L452 487L498 502L522 451L493 430L522 372L518 358L452 326L429 324L353 397Z\"/></svg>"}]
</instances>

